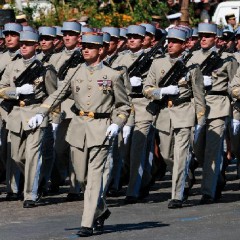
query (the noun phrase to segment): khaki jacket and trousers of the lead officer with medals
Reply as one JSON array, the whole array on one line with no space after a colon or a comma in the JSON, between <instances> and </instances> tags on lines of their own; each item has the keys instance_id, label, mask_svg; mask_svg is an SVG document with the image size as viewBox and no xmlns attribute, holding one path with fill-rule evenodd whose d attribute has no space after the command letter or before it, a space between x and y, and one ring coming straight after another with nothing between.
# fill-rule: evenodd
<instances>
[{"instance_id":1,"label":"khaki jacket and trousers of the lead officer with medals","mask_svg":"<svg viewBox=\"0 0 240 240\"><path fill-rule=\"evenodd\" d=\"M64 88L64 86L69 87ZM71 93L76 107L81 112L79 112L80 116L74 115L66 140L71 146L74 169L84 191L81 225L91 228L97 217L95 212L99 210L97 205L102 193L102 173L111 142L107 141L100 149L99 146L103 143L106 130L111 123L119 127L125 124L130 106L119 73L104 66L102 62L95 67L82 64L77 69L71 69L62 87L42 104L40 112L46 112L53 102L57 105L61 98ZM94 119L91 117L94 113L111 113L112 117L111 119L108 117ZM87 114L89 116L84 116ZM92 162L89 162L98 150L99 154ZM98 206L103 206L98 214L101 215L106 210L105 203Z\"/></svg>"}]
</instances>

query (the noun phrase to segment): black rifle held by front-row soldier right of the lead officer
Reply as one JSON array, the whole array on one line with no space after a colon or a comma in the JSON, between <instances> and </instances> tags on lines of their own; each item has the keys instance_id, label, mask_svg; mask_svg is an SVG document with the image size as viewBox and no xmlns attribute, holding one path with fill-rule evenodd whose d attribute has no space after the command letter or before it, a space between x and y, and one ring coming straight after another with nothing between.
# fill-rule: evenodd
<instances>
[{"instance_id":1,"label":"black rifle held by front-row soldier right of the lead officer","mask_svg":"<svg viewBox=\"0 0 240 240\"><path fill-rule=\"evenodd\" d=\"M190 58L193 56L193 52L198 48L198 43L194 45L194 47L183 56L181 60L177 60L174 65L169 69L169 71L166 73L166 75L162 78L162 80L159 82L158 87L168 87L170 85L178 85L178 81L185 76L187 72L186 64L190 60ZM146 110L151 113L153 116L155 116L161 107L161 103L164 101L164 99L160 100L153 100L150 102Z\"/></svg>"}]
</instances>

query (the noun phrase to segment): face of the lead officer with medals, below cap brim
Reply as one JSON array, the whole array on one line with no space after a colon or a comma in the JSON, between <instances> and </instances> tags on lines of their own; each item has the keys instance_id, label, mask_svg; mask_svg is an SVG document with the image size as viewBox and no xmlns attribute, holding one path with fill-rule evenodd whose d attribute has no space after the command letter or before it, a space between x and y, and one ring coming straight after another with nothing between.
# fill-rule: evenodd
<instances>
[{"instance_id":1,"label":"face of the lead officer with medals, below cap brim","mask_svg":"<svg viewBox=\"0 0 240 240\"><path fill-rule=\"evenodd\" d=\"M103 54L101 45L94 43L82 43L82 54L86 62L94 63L98 61L100 55Z\"/></svg>"}]
</instances>

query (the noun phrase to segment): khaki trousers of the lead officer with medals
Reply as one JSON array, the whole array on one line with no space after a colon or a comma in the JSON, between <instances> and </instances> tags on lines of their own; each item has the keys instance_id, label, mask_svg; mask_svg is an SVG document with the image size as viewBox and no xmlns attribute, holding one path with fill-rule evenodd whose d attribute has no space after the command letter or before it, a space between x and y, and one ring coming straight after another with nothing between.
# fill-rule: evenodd
<instances>
[{"instance_id":1,"label":"khaki trousers of the lead officer with medals","mask_svg":"<svg viewBox=\"0 0 240 240\"><path fill-rule=\"evenodd\" d=\"M98 151L99 146L91 148L84 146L83 149L70 146L70 148L73 167L81 189L84 192L81 226L92 228L96 213L99 212L98 206L106 206L105 203L100 204L99 201L104 201L104 198L101 197L103 191L103 172L109 146L102 147L92 162L89 159ZM98 214L101 215L101 213Z\"/></svg>"}]
</instances>

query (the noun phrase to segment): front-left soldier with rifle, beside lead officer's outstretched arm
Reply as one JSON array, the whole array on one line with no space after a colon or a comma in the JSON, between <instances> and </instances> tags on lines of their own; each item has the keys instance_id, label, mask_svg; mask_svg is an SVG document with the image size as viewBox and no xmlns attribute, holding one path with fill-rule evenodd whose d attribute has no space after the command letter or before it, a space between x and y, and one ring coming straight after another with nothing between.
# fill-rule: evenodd
<instances>
[{"instance_id":1,"label":"front-left soldier with rifle, beside lead officer's outstretched arm","mask_svg":"<svg viewBox=\"0 0 240 240\"><path fill-rule=\"evenodd\" d=\"M24 208L36 206L40 181L37 165L41 161L41 139L46 126L45 123L43 128L33 132L26 123L36 113L36 108L43 99L57 87L56 74L51 68L34 68L38 37L37 33L30 31L20 32L20 51L23 58L7 66L0 82L1 98L14 104L7 116L6 128L10 131L11 156L25 176ZM28 83L25 79L23 84L19 83L18 77L30 66L34 68L34 72L31 72L33 82Z\"/></svg>"}]
</instances>

